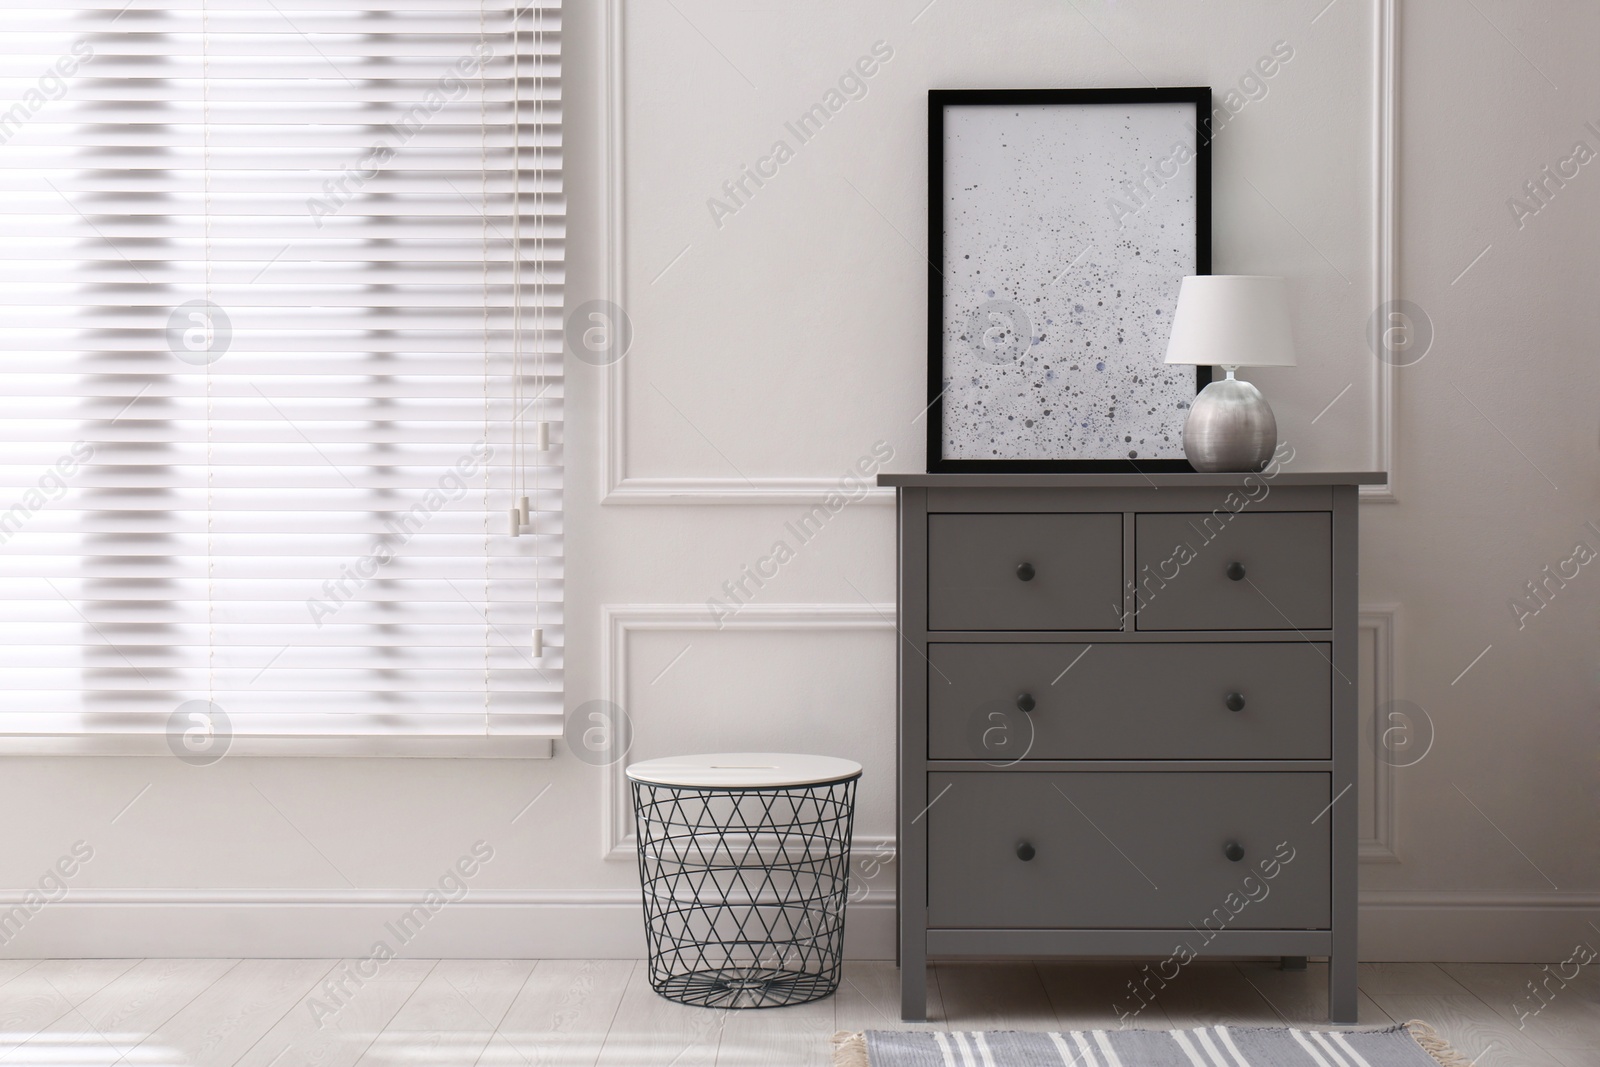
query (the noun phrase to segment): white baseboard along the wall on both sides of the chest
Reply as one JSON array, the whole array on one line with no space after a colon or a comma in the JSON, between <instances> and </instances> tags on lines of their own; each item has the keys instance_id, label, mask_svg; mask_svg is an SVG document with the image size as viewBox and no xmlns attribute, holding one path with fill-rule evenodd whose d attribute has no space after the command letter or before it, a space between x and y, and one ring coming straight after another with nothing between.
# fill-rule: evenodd
<instances>
[{"instance_id":1,"label":"white baseboard along the wall on both sides of the chest","mask_svg":"<svg viewBox=\"0 0 1600 1067\"><path fill-rule=\"evenodd\" d=\"M0 897L0 917L14 897ZM85 889L43 905L0 944L0 958L334 958L371 955L378 941L406 958L645 955L638 894L624 889L474 893L402 939L394 931L416 902L392 891ZM1362 894L1362 960L1550 963L1584 941L1600 944L1600 893ZM845 953L894 957L891 897L850 905Z\"/></svg>"}]
</instances>

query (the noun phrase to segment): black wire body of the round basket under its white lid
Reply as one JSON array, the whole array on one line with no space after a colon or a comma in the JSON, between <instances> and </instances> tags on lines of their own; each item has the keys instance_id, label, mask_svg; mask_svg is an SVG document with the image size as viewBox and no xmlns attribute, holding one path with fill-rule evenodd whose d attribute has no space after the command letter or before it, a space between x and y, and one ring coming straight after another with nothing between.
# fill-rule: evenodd
<instances>
[{"instance_id":1,"label":"black wire body of the round basket under its white lid","mask_svg":"<svg viewBox=\"0 0 1600 1067\"><path fill-rule=\"evenodd\" d=\"M838 989L858 777L632 782L651 989L704 1008L781 1008Z\"/></svg>"}]
</instances>

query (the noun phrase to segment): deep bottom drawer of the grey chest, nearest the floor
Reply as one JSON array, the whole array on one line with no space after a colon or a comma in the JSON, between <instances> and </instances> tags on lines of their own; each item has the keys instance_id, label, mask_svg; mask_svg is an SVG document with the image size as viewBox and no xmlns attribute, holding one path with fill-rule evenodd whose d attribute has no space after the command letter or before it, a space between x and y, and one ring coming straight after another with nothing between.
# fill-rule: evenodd
<instances>
[{"instance_id":1,"label":"deep bottom drawer of the grey chest, nearest the floor","mask_svg":"<svg viewBox=\"0 0 1600 1067\"><path fill-rule=\"evenodd\" d=\"M930 774L928 925L1326 929L1328 784L1322 773Z\"/></svg>"}]
</instances>

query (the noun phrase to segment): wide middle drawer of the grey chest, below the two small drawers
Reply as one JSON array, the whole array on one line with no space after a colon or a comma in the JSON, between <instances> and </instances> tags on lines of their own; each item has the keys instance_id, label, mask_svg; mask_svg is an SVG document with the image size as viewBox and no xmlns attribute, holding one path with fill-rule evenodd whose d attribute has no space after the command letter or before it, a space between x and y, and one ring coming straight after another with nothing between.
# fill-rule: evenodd
<instances>
[{"instance_id":1,"label":"wide middle drawer of the grey chest, below the two small drawers","mask_svg":"<svg viewBox=\"0 0 1600 1067\"><path fill-rule=\"evenodd\" d=\"M930 645L928 662L931 760L1331 755L1328 645Z\"/></svg>"}]
</instances>

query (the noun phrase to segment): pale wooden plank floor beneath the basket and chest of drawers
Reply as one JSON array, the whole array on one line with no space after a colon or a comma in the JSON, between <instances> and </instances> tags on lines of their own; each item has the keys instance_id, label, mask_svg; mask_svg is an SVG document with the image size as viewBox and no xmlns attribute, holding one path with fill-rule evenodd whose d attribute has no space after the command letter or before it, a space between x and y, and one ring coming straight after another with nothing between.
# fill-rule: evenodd
<instances>
[{"instance_id":1,"label":"pale wooden plank floor beneath the basket and chest of drawers","mask_svg":"<svg viewBox=\"0 0 1600 1067\"><path fill-rule=\"evenodd\" d=\"M1362 965L1362 1025L1427 1019L1477 1067L1595 1067L1589 971L1560 985L1536 966ZM941 963L926 1027L1115 1027L1138 976ZM1526 982L1542 979L1539 1001ZM1131 1025L1320 1025L1325 987L1317 963L1195 963ZM0 1067L827 1067L829 1035L896 1029L898 1003L890 963L846 965L811 1005L710 1011L656 997L630 960L395 960L365 977L331 960L0 960Z\"/></svg>"}]
</instances>

